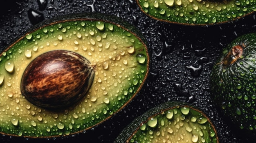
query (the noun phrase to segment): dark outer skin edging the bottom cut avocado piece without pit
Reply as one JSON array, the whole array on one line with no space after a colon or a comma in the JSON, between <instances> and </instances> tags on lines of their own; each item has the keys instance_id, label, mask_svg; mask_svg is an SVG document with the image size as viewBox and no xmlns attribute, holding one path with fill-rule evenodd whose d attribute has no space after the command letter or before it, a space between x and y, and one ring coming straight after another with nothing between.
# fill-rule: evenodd
<instances>
[{"instance_id":1,"label":"dark outer skin edging the bottom cut avocado piece without pit","mask_svg":"<svg viewBox=\"0 0 256 143\"><path fill-rule=\"evenodd\" d=\"M219 143L218 133L216 132L216 129L213 123L211 123L209 117L207 117L207 115L202 110L198 109L193 104L182 101L167 101L147 110L146 112L135 118L129 125L127 125L126 128L124 128L124 130L117 136L114 143L130 143L132 136L136 134L136 132L141 127L141 124L146 123L148 119L156 116L157 114L162 114L164 111L180 107L191 108L207 118L208 122L211 124L211 128L214 130L216 135L212 137L212 141L207 140L206 142Z\"/></svg>"}]
</instances>

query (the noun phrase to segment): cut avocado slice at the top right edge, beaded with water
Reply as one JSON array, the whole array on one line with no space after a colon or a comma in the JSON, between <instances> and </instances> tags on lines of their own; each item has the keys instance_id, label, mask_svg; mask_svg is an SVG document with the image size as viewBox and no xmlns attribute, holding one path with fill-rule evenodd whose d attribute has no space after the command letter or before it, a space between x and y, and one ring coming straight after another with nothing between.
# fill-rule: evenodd
<instances>
[{"instance_id":1,"label":"cut avocado slice at the top right edge, beaded with water","mask_svg":"<svg viewBox=\"0 0 256 143\"><path fill-rule=\"evenodd\" d=\"M216 25L256 11L255 0L136 0L143 13L168 23Z\"/></svg>"}]
</instances>

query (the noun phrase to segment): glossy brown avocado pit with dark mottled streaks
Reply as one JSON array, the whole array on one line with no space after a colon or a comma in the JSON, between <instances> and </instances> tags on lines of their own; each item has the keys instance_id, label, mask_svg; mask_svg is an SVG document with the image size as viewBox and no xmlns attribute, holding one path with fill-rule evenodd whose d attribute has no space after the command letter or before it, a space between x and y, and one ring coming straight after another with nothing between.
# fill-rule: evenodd
<instances>
[{"instance_id":1,"label":"glossy brown avocado pit with dark mottled streaks","mask_svg":"<svg viewBox=\"0 0 256 143\"><path fill-rule=\"evenodd\" d=\"M27 66L21 92L36 106L58 109L83 98L93 78L93 67L85 57L71 51L49 51Z\"/></svg>"}]
</instances>

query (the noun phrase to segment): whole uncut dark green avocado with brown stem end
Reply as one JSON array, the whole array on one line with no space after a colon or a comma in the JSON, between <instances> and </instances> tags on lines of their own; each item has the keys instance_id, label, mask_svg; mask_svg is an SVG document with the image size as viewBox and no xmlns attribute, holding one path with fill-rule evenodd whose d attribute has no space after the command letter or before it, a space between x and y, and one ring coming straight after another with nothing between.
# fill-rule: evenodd
<instances>
[{"instance_id":1,"label":"whole uncut dark green avocado with brown stem end","mask_svg":"<svg viewBox=\"0 0 256 143\"><path fill-rule=\"evenodd\" d=\"M256 131L256 33L228 44L213 65L210 89L213 103L236 128Z\"/></svg>"}]
</instances>

